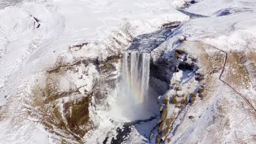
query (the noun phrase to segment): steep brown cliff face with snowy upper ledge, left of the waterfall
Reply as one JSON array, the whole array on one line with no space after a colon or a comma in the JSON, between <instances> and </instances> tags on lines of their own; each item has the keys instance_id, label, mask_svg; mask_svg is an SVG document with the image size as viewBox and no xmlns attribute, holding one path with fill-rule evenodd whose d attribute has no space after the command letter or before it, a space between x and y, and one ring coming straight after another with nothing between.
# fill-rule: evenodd
<instances>
[{"instance_id":1,"label":"steep brown cliff face with snowy upper ledge, left of the waterfall","mask_svg":"<svg viewBox=\"0 0 256 144\"><path fill-rule=\"evenodd\" d=\"M46 72L45 83L36 82L32 89L32 105L37 109L30 110L30 115L40 119L46 130L62 137L62 142L83 142L82 137L92 128L89 105L95 83L88 75L98 74L95 65L86 60L57 64Z\"/></svg>"}]
</instances>

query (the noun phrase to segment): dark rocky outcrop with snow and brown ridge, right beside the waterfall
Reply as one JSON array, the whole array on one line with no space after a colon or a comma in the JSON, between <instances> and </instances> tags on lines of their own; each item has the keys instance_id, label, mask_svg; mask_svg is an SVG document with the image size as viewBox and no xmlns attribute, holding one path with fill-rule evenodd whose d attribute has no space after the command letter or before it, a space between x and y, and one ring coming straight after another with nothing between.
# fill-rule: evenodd
<instances>
[{"instance_id":1,"label":"dark rocky outcrop with snow and brown ridge, right beside the waterfall","mask_svg":"<svg viewBox=\"0 0 256 144\"><path fill-rule=\"evenodd\" d=\"M195 86L191 88L181 85L182 79L193 78L191 75L198 74L199 67L195 56L182 47L169 52L168 56L166 59L160 57L150 69L153 77L165 81L168 86L159 98L161 117L155 127L158 129L156 143L165 141L167 135L174 130L176 119L184 116L188 106L194 103L199 86L196 81ZM178 73L183 73L183 76L177 77Z\"/></svg>"}]
</instances>

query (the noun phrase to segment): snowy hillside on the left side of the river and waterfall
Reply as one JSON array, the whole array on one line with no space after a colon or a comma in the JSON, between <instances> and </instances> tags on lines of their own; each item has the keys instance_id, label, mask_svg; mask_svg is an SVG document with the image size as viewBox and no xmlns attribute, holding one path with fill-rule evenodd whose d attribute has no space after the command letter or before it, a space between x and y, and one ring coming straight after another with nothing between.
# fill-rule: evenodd
<instances>
[{"instance_id":1,"label":"snowy hillside on the left side of the river and waterfall","mask_svg":"<svg viewBox=\"0 0 256 144\"><path fill-rule=\"evenodd\" d=\"M72 137L76 134L70 130L62 133L56 127L63 115L51 113L51 109L68 113L65 104L81 97L75 91L65 98L54 98L54 104L41 104L48 94L40 92L44 85L58 87L63 93L74 88L82 94L91 91L97 68L77 62L104 61L124 51L136 35L153 32L169 21L188 20L173 8L172 1L4 1L1 6L0 143L77 143ZM78 73L68 71L72 63ZM66 64L65 75L46 72L58 64ZM67 121L64 117L63 122ZM45 127L53 128L54 134Z\"/></svg>"}]
</instances>

